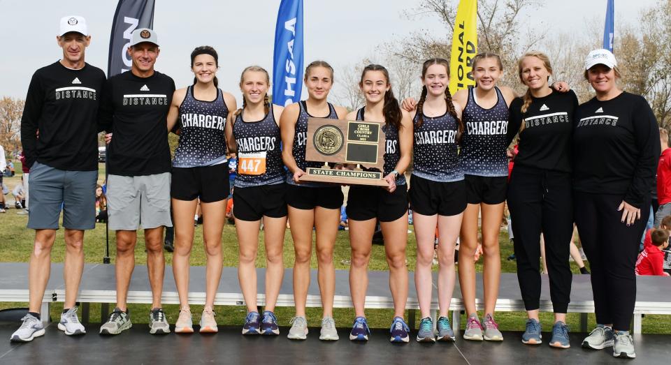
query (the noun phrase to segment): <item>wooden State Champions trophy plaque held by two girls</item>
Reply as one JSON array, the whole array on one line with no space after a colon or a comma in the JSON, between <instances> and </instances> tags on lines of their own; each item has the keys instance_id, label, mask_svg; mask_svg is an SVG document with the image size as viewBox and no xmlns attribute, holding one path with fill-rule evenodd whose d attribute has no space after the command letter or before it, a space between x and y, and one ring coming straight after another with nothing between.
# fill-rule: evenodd
<instances>
[{"instance_id":1,"label":"wooden State Champions trophy plaque held by two girls","mask_svg":"<svg viewBox=\"0 0 671 365\"><path fill-rule=\"evenodd\" d=\"M388 186L381 172L384 166L383 125L373 121L308 118L305 160L324 162L324 166L308 167L301 181ZM336 170L327 163L351 164L356 168ZM380 171L364 171L362 165Z\"/></svg>"}]
</instances>

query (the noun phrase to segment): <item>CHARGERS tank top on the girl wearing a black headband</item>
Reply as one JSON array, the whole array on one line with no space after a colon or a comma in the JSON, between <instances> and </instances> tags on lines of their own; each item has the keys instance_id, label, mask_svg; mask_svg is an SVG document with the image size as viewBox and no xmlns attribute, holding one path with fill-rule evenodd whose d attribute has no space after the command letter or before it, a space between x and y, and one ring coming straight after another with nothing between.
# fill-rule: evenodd
<instances>
[{"instance_id":1,"label":"CHARGERS tank top on the girl wearing a black headband","mask_svg":"<svg viewBox=\"0 0 671 365\"><path fill-rule=\"evenodd\" d=\"M178 123L181 125L180 144L175 150L173 167L211 166L226 162L224 126L229 114L224 94L217 89L217 98L203 101L194 98L194 87L180 105Z\"/></svg>"}]
</instances>

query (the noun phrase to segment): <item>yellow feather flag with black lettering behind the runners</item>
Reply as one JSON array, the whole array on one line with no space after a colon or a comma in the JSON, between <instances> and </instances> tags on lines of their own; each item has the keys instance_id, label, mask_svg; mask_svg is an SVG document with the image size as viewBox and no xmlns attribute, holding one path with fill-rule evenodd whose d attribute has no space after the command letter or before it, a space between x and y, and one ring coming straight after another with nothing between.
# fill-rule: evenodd
<instances>
[{"instance_id":1,"label":"yellow feather flag with black lettering behind the runners","mask_svg":"<svg viewBox=\"0 0 671 365\"><path fill-rule=\"evenodd\" d=\"M452 52L449 60L449 91L475 85L472 60L477 54L477 0L461 0L454 20Z\"/></svg>"}]
</instances>

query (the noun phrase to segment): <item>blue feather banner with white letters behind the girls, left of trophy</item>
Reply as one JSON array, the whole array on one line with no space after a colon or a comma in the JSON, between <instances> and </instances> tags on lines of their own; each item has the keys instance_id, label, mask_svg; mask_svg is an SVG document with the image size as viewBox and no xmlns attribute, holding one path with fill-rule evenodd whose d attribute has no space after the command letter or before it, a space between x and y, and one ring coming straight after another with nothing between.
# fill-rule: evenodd
<instances>
[{"instance_id":1,"label":"blue feather banner with white letters behind the girls, left of trophy","mask_svg":"<svg viewBox=\"0 0 671 365\"><path fill-rule=\"evenodd\" d=\"M301 100L303 89L303 0L282 0L273 52L273 104Z\"/></svg>"}]
</instances>

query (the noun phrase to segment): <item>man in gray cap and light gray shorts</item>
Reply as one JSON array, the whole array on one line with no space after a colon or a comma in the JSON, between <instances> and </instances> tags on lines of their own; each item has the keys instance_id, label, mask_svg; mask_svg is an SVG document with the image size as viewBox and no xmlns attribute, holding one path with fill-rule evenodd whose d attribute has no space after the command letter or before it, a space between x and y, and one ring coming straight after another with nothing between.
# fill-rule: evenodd
<instances>
[{"instance_id":1,"label":"man in gray cap and light gray shorts","mask_svg":"<svg viewBox=\"0 0 671 365\"><path fill-rule=\"evenodd\" d=\"M101 124L113 135L107 155L107 204L109 226L117 237L117 306L100 328L101 334L120 334L131 328L127 295L140 227L145 230L152 287L150 333L170 332L161 294L166 267L163 230L172 225L166 123L175 82L154 70L159 52L156 32L136 29L128 49L131 71L110 77L103 89Z\"/></svg>"}]
</instances>

